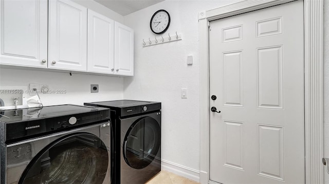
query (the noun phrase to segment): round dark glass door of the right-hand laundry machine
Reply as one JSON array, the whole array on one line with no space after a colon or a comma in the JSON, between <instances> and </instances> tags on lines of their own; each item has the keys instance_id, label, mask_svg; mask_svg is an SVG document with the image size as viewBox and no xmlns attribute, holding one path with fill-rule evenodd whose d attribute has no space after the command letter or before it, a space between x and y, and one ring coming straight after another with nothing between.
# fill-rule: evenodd
<instances>
[{"instance_id":1,"label":"round dark glass door of the right-hand laundry machine","mask_svg":"<svg viewBox=\"0 0 329 184\"><path fill-rule=\"evenodd\" d=\"M136 120L123 141L123 157L127 165L143 169L157 157L161 144L161 129L152 117Z\"/></svg>"}]
</instances>

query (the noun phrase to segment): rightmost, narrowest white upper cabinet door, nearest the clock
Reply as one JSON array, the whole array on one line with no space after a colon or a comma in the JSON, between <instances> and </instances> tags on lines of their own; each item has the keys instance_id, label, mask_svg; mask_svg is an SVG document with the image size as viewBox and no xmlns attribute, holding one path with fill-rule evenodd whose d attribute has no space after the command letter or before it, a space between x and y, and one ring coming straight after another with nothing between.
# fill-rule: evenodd
<instances>
[{"instance_id":1,"label":"rightmost, narrowest white upper cabinet door, nearest the clock","mask_svg":"<svg viewBox=\"0 0 329 184\"><path fill-rule=\"evenodd\" d=\"M114 24L114 70L118 75L134 75L134 30Z\"/></svg>"}]
</instances>

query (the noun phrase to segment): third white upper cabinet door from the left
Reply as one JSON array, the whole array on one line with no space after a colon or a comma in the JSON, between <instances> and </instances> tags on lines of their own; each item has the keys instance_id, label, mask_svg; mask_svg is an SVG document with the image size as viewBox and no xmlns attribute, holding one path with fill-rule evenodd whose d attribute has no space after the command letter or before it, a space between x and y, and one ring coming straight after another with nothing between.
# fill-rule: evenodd
<instances>
[{"instance_id":1,"label":"third white upper cabinet door from the left","mask_svg":"<svg viewBox=\"0 0 329 184\"><path fill-rule=\"evenodd\" d=\"M114 73L114 21L88 10L87 71Z\"/></svg>"}]
</instances>

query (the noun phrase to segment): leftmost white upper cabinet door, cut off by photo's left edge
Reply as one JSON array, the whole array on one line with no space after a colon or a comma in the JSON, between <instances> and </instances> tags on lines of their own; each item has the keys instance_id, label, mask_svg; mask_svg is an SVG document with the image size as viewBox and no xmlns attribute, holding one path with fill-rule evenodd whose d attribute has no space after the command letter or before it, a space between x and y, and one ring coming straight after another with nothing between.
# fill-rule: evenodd
<instances>
[{"instance_id":1,"label":"leftmost white upper cabinet door, cut off by photo's left edge","mask_svg":"<svg viewBox=\"0 0 329 184\"><path fill-rule=\"evenodd\" d=\"M47 68L47 1L0 1L0 64Z\"/></svg>"}]
</instances>

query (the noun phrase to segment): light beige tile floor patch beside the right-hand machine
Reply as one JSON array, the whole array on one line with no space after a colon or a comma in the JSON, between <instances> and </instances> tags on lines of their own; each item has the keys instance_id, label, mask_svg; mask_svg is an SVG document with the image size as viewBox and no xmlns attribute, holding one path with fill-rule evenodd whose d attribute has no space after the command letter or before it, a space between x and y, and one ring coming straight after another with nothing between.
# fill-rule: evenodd
<instances>
[{"instance_id":1,"label":"light beige tile floor patch beside the right-hand machine","mask_svg":"<svg viewBox=\"0 0 329 184\"><path fill-rule=\"evenodd\" d=\"M168 171L161 171L145 184L198 184L198 182Z\"/></svg>"}]
</instances>

